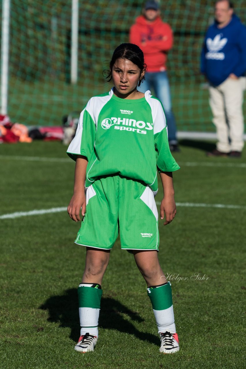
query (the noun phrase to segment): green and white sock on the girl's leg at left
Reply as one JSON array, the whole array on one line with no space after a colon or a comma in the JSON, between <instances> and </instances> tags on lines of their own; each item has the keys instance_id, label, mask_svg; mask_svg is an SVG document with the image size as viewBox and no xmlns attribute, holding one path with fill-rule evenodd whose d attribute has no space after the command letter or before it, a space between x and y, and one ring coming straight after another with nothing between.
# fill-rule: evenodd
<instances>
[{"instance_id":1,"label":"green and white sock on the girl's leg at left","mask_svg":"<svg viewBox=\"0 0 246 369\"><path fill-rule=\"evenodd\" d=\"M88 288L89 287L89 288ZM79 295L79 320L80 335L87 332L98 337L98 318L100 312L101 296L103 290L97 283L80 283Z\"/></svg>"}]
</instances>

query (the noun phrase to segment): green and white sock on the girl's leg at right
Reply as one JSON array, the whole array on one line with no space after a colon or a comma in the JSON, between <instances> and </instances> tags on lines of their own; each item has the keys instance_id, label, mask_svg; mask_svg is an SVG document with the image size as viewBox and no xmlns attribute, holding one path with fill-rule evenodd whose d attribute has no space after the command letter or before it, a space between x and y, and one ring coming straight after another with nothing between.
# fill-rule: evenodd
<instances>
[{"instance_id":1,"label":"green and white sock on the girl's leg at right","mask_svg":"<svg viewBox=\"0 0 246 369\"><path fill-rule=\"evenodd\" d=\"M147 290L156 318L158 333L166 331L176 333L171 283L150 286Z\"/></svg>"}]
</instances>

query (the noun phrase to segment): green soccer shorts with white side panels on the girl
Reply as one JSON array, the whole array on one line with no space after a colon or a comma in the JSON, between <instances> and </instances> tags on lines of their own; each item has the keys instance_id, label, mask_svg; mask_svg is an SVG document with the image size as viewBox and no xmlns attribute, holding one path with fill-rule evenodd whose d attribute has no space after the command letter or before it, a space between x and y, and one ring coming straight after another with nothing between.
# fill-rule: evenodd
<instances>
[{"instance_id":1,"label":"green soccer shorts with white side panels on the girl","mask_svg":"<svg viewBox=\"0 0 246 369\"><path fill-rule=\"evenodd\" d=\"M154 193L130 178L102 177L86 190L86 214L75 243L109 250L119 230L122 249L158 251Z\"/></svg>"}]
</instances>

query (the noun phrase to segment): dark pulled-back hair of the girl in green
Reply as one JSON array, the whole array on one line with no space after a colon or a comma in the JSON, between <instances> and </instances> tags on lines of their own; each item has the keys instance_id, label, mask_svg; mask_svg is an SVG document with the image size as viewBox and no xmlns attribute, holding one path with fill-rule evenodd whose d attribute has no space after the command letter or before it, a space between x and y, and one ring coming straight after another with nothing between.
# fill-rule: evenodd
<instances>
[{"instance_id":1,"label":"dark pulled-back hair of the girl in green","mask_svg":"<svg viewBox=\"0 0 246 369\"><path fill-rule=\"evenodd\" d=\"M132 63L138 66L140 69L140 74L143 70L146 69L146 64L144 62L144 56L142 50L135 44L121 44L119 45L115 51L113 52L111 62L109 64L109 72L105 76L108 82L112 82L112 68L117 59L128 59ZM143 76L141 80L138 82L138 86L141 85L141 82L145 79Z\"/></svg>"}]
</instances>

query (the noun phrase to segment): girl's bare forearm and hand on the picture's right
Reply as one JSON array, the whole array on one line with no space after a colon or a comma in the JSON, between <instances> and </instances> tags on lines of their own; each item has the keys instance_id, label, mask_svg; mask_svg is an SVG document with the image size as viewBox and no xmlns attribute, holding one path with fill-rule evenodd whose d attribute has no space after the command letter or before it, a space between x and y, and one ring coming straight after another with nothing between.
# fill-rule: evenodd
<instances>
[{"instance_id":1,"label":"girl's bare forearm and hand on the picture's right","mask_svg":"<svg viewBox=\"0 0 246 369\"><path fill-rule=\"evenodd\" d=\"M173 173L161 172L160 179L163 186L163 200L160 204L160 218L166 215L164 225L171 223L176 214L176 204L174 200Z\"/></svg>"}]
</instances>

